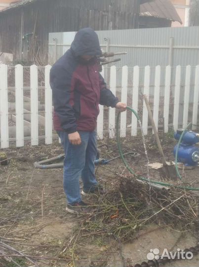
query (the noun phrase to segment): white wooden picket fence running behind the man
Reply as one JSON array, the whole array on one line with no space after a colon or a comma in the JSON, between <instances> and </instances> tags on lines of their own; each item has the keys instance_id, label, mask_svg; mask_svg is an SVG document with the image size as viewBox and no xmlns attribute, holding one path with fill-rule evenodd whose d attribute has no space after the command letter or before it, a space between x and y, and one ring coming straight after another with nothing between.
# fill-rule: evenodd
<instances>
[{"instance_id":1,"label":"white wooden picket fence running behind the man","mask_svg":"<svg viewBox=\"0 0 199 267\"><path fill-rule=\"evenodd\" d=\"M50 65L45 66L45 144L51 144L53 141L53 127L52 127L52 91L49 84L49 72ZM154 98L153 98L153 116L157 128L159 127L159 108L160 108L160 77L164 71L164 98L163 106L163 129L164 132L168 132L169 128L169 109L170 109L170 92L171 92L171 67L161 68L156 66L155 68L155 83L154 83ZM30 67L30 125L31 125L31 136L29 138L24 137L24 87L23 87L23 66L15 66L15 116L16 116L16 138L9 138L9 110L8 110L8 84L7 84L7 73L8 66L0 64L0 145L1 148L9 147L9 141L15 140L16 146L24 146L25 139L31 139L32 145L39 144L39 122L38 122L38 67L33 65ZM122 82L121 82L121 101L127 102L129 97L132 97L132 108L138 111L138 104L140 99L140 68L135 66L133 68L132 86L128 85L128 67L122 67ZM104 69L103 73L104 75ZM188 114L190 107L190 77L191 77L191 66L186 67L186 77L183 89L184 103L183 103L183 122L182 127L188 124ZM177 66L175 69L175 84L174 87L174 105L173 105L173 128L176 130L179 127L179 106L180 106L180 94L182 90L181 85L181 66ZM117 69L116 66L110 68L110 89L116 94L117 92ZM150 94L150 66L144 68L144 84L142 85L143 94L146 94L149 98ZM129 94L130 91L130 94ZM162 104L161 104L162 105ZM192 105L192 123L193 129L197 128L198 110L199 110L199 65L195 68L195 82L194 82L194 101ZM127 129L127 112L121 113L120 120L120 136L126 136ZM142 125L144 134L148 134L148 111L143 101L142 107ZM115 122L116 122L116 110L113 108L109 109L109 122L108 132L109 137L115 137ZM104 135L104 107L100 105L100 114L97 120L97 134L98 138L102 139ZM132 114L131 118L131 135L137 134L138 126L137 119Z\"/></svg>"}]
</instances>

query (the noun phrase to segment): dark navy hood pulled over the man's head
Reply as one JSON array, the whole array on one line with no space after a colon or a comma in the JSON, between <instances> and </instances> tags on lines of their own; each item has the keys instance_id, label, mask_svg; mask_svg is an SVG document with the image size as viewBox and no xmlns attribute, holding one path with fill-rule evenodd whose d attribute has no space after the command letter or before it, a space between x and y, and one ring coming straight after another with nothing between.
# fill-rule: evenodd
<instances>
[{"instance_id":1,"label":"dark navy hood pulled over the man's head","mask_svg":"<svg viewBox=\"0 0 199 267\"><path fill-rule=\"evenodd\" d=\"M84 28L78 31L71 48L76 56L96 56L102 53L98 36L91 28Z\"/></svg>"}]
</instances>

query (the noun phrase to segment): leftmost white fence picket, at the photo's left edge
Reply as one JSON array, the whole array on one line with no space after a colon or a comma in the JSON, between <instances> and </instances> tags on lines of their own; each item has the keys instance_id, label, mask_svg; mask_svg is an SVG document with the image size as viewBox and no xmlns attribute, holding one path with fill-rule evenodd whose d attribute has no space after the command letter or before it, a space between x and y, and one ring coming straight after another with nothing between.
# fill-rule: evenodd
<instances>
[{"instance_id":1,"label":"leftmost white fence picket, at the photo's left edge","mask_svg":"<svg viewBox=\"0 0 199 267\"><path fill-rule=\"evenodd\" d=\"M0 64L0 146L9 147L7 66Z\"/></svg>"}]
</instances>

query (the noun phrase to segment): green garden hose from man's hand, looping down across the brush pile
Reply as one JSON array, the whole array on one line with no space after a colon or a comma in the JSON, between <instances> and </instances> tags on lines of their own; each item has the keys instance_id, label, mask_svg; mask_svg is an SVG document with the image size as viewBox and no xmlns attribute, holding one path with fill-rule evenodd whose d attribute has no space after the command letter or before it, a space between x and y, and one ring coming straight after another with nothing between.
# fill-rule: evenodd
<instances>
[{"instance_id":1,"label":"green garden hose from man's hand, looping down across the brush pile","mask_svg":"<svg viewBox=\"0 0 199 267\"><path fill-rule=\"evenodd\" d=\"M127 110L131 111L132 113L134 113L134 115L136 116L137 120L140 121L140 117L139 115L137 114L137 112L130 108L130 107L126 107ZM160 185L163 185L163 186L175 186L174 184L171 184L171 183L164 183L164 182L160 182L160 181L155 181L155 180L151 180L149 181L149 179L145 178L145 177L141 177L141 176L138 176L135 174L135 172L132 170L132 168L130 168L128 166L128 163L126 162L125 158L124 158L124 155L123 155L123 152L122 152L122 149L121 149L121 144L120 144L120 140L119 140L119 118L120 118L120 112L118 113L118 116L117 116L117 124L116 124L116 133L117 133L117 144L118 144L118 150L119 150L119 155L126 167L126 169L132 174L134 175L134 177L136 179L140 179L142 181L146 181L146 182L151 182L151 183L155 183L155 184L160 184ZM187 128L189 127L189 125L187 126ZM180 141L180 140L179 140ZM180 142L179 142L180 143ZM177 188L181 188L181 189L186 189L186 190L192 190L192 191L199 191L199 188L198 187L189 187L189 186L181 186L181 185L176 185L175 187Z\"/></svg>"}]
</instances>

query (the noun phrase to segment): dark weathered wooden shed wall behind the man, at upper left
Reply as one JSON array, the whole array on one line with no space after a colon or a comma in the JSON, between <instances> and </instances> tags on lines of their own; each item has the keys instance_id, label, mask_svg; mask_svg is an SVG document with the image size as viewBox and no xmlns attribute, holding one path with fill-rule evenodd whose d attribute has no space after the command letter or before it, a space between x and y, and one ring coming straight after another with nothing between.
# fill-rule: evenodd
<instances>
[{"instance_id":1,"label":"dark weathered wooden shed wall behind the man, at upper left","mask_svg":"<svg viewBox=\"0 0 199 267\"><path fill-rule=\"evenodd\" d=\"M24 0L0 11L0 51L15 60L47 62L48 33L134 29L147 0Z\"/></svg>"}]
</instances>

